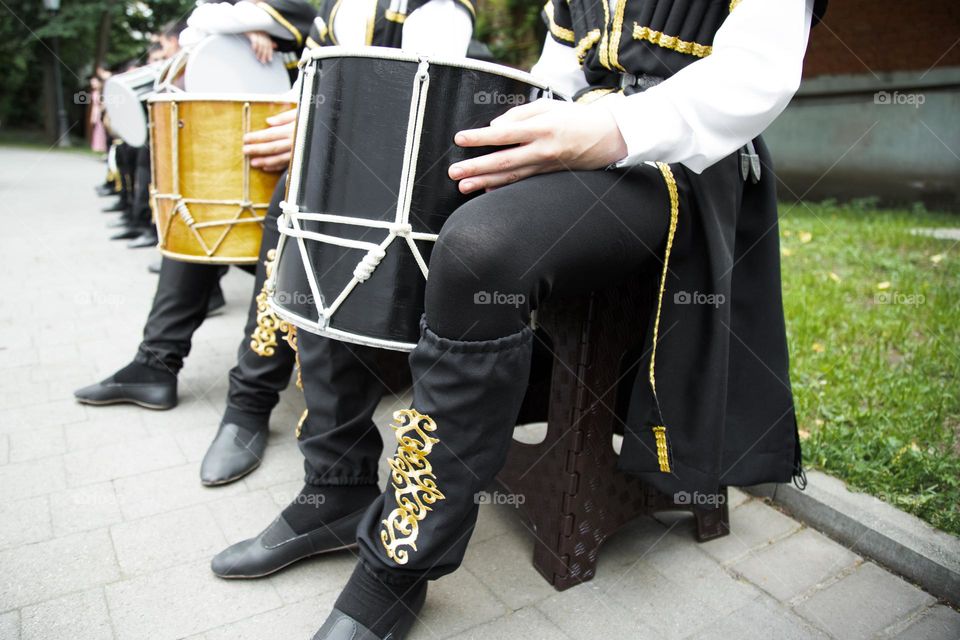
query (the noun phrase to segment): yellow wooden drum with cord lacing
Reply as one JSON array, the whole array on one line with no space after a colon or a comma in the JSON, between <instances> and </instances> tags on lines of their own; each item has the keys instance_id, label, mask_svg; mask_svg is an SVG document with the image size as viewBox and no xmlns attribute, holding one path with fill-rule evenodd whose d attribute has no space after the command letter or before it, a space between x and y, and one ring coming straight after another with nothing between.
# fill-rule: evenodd
<instances>
[{"instance_id":1,"label":"yellow wooden drum with cord lacing","mask_svg":"<svg viewBox=\"0 0 960 640\"><path fill-rule=\"evenodd\" d=\"M294 106L276 96L150 99L151 203L163 255L208 264L257 262L280 174L250 167L242 138Z\"/></svg>"}]
</instances>

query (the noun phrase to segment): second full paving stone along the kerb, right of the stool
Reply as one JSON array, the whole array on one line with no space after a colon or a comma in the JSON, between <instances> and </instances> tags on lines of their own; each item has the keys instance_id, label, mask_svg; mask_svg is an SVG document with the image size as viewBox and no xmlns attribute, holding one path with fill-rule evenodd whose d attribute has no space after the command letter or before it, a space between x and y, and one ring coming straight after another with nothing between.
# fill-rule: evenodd
<instances>
[{"instance_id":1,"label":"second full paving stone along the kerb, right of the stool","mask_svg":"<svg viewBox=\"0 0 960 640\"><path fill-rule=\"evenodd\" d=\"M803 529L763 547L732 569L778 600L788 601L860 561L822 533Z\"/></svg>"}]
</instances>

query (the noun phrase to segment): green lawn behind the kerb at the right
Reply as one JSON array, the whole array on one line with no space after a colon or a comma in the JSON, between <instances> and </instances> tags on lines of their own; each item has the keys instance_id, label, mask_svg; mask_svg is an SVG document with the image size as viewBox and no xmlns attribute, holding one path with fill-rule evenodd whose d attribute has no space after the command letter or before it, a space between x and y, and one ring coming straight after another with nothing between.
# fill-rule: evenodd
<instances>
[{"instance_id":1,"label":"green lawn behind the kerb at the right","mask_svg":"<svg viewBox=\"0 0 960 640\"><path fill-rule=\"evenodd\" d=\"M960 535L960 216L781 205L804 460Z\"/></svg>"}]
</instances>

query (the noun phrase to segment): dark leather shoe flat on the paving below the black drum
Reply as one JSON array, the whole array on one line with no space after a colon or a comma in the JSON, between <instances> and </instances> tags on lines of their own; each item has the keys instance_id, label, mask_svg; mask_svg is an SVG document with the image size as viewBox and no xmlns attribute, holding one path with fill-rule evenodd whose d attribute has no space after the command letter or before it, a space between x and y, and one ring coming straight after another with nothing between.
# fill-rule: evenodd
<instances>
[{"instance_id":1,"label":"dark leather shoe flat on the paving below the black drum","mask_svg":"<svg viewBox=\"0 0 960 640\"><path fill-rule=\"evenodd\" d=\"M213 557L210 569L221 578L262 578L310 556L357 546L361 509L330 524L297 535L283 515L256 538L230 545Z\"/></svg>"}]
</instances>

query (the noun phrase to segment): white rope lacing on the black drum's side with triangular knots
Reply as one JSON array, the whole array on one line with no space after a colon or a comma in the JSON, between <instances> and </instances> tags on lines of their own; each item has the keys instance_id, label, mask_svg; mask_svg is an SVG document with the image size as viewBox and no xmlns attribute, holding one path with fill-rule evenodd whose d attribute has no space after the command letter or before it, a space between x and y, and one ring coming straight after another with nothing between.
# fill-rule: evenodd
<instances>
[{"instance_id":1,"label":"white rope lacing on the black drum's side with triangular knots","mask_svg":"<svg viewBox=\"0 0 960 640\"><path fill-rule=\"evenodd\" d=\"M277 255L279 256L282 253L281 248L283 246L284 236L290 236L297 239L300 257L307 276L307 282L310 286L311 293L313 294L314 306L317 309L317 315L320 322L322 322L324 325L329 323L330 318L334 313L336 313L337 309L340 308L340 306L343 304L343 301L346 300L347 296L353 292L357 285L370 279L377 266L379 266L380 262L386 256L387 247L393 243L395 238L403 238L406 241L407 246L410 248L410 251L413 254L414 260L416 260L417 265L420 267L420 272L423 274L423 277L427 278L428 276L429 271L427 268L427 262L420 253L420 249L417 247L416 242L418 240L436 242L437 234L413 231L413 226L410 224L410 206L412 203L414 183L416 182L417 160L419 158L420 138L423 132L424 112L427 106L427 93L430 89L429 67L430 63L428 60L426 58L420 58L419 66L417 67L417 74L414 77L413 94L410 98L410 112L407 119L407 137L404 143L403 165L400 173L400 192L397 197L397 212L393 221L368 220L364 218L353 218L331 213L301 212L299 207L286 201L282 202L280 205L284 215L277 221L277 227L280 231L280 242L277 245ZM306 75L306 80L312 81L315 73L315 66L305 65L303 71ZM306 86L307 84L307 82L304 82L303 86ZM312 86L312 82L310 82L310 84ZM301 106L302 105L303 94L301 94ZM305 111L305 109L301 109L301 112ZM300 122L298 122L298 135L294 151L294 159L299 159L301 162L303 158L302 153L304 144L301 134L303 133L303 130L306 129L305 122L306 117L304 114L304 117L301 117ZM300 162L296 163L296 169L296 171L291 171L292 175L290 180L290 193L288 194L288 200L291 202L296 202L297 196L299 196L299 174L300 170L302 170ZM348 238L331 236L325 233L306 231L300 225L300 223L304 221L331 222L336 224L348 224L360 227L384 229L387 231L387 237L384 238L384 240L379 244L365 242L362 240L351 240ZM304 240L313 240L315 242L323 242L340 247L366 251L363 258L360 259L360 261L357 263L357 266L354 268L353 277L346 284L346 286L344 286L343 290L339 295L337 295L337 297L329 306L324 305L324 301L320 295L316 274L310 266L311 262L307 257L307 250ZM276 277L276 271L277 270L274 270L274 278ZM270 289L271 302L272 292L274 290L275 286Z\"/></svg>"}]
</instances>

